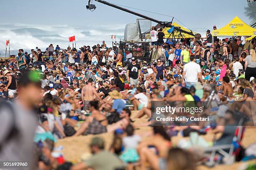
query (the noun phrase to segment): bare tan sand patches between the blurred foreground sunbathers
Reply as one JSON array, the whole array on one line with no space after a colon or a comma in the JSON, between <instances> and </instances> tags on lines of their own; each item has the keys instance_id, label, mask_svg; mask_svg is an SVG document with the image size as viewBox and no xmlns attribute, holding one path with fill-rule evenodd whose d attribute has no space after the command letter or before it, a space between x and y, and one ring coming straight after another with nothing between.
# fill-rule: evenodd
<instances>
[{"instance_id":1,"label":"bare tan sand patches between the blurred foreground sunbathers","mask_svg":"<svg viewBox=\"0 0 256 170\"><path fill-rule=\"evenodd\" d=\"M136 111L132 111L132 116L136 114ZM134 124L140 125L145 122L147 122L148 118L146 116L142 117L141 119L136 119ZM242 145L244 148L246 148L251 143L256 142L256 138L254 136L254 132L256 130L256 127L246 127L244 137L242 140ZM136 134L142 136L142 140L147 140L147 135L151 133L150 127L141 126L136 129ZM65 158L68 161L71 161L73 163L77 163L81 161L81 157L87 157L88 154L90 154L90 148L89 143L90 140L95 135L87 135L87 136L78 136L78 137L69 137L65 139L60 139L57 141L56 146L63 146L63 153ZM105 146L106 148L109 148L112 140L113 140L113 133L103 133L100 135L97 135L102 137L105 140ZM211 141L213 136L211 134L201 135L202 138L204 138L207 141ZM172 145L176 146L180 139L182 139L181 135L172 137ZM186 137L184 139L187 139ZM253 160L256 162L256 160ZM250 161L250 162L253 162ZM227 169L233 169L236 170L239 166L241 166L244 162L237 162L233 165L216 165L214 168L207 168L206 166L199 166L198 170L227 170Z\"/></svg>"}]
</instances>

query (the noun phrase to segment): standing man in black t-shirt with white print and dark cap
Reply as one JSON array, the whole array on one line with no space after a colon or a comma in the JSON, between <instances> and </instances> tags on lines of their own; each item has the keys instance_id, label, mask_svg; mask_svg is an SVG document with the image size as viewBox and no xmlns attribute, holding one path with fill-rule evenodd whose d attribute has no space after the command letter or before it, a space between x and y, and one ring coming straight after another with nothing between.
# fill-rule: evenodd
<instances>
[{"instance_id":1,"label":"standing man in black t-shirt with white print and dark cap","mask_svg":"<svg viewBox=\"0 0 256 170\"><path fill-rule=\"evenodd\" d=\"M134 85L134 87L136 87L138 79L141 75L141 66L136 63L134 57L132 57L132 63L128 65L126 73L127 80L130 81L131 85Z\"/></svg>"}]
</instances>

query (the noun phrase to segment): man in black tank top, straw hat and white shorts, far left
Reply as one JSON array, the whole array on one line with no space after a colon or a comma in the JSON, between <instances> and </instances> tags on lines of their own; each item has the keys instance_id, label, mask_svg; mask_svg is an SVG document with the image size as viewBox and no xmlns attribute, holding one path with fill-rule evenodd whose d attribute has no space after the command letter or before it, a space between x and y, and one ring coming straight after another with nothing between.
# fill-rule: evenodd
<instances>
[{"instance_id":1,"label":"man in black tank top, straw hat and white shorts, far left","mask_svg":"<svg viewBox=\"0 0 256 170\"><path fill-rule=\"evenodd\" d=\"M17 92L17 81L15 76L10 74L9 70L5 70L4 76L6 76L8 80L8 84L5 87L5 91L8 91L9 99L11 99Z\"/></svg>"}]
</instances>

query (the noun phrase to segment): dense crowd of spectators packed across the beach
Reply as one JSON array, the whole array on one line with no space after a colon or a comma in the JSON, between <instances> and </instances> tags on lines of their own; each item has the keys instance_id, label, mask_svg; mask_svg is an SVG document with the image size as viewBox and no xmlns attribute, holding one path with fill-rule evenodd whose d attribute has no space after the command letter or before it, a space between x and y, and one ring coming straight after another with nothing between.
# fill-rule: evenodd
<instances>
[{"instance_id":1,"label":"dense crowd of spectators packed across the beach","mask_svg":"<svg viewBox=\"0 0 256 170\"><path fill-rule=\"evenodd\" d=\"M79 50L52 44L45 51L20 49L15 58L1 60L1 160L29 160L31 169L42 170L196 169L202 158L173 148L170 127L153 126L150 139L141 141L134 120L146 115L145 125L151 125L152 101L255 101L256 40L212 39L207 30L205 38L164 42L162 29L151 32L159 55L153 61L138 62L129 45L107 47L105 41ZM230 127L217 125L207 133L222 132L215 142L231 144L236 126ZM175 126L172 132L189 136L203 128ZM93 155L82 163L60 165L51 154L57 139L107 132L114 133L111 147L93 138Z\"/></svg>"}]
</instances>

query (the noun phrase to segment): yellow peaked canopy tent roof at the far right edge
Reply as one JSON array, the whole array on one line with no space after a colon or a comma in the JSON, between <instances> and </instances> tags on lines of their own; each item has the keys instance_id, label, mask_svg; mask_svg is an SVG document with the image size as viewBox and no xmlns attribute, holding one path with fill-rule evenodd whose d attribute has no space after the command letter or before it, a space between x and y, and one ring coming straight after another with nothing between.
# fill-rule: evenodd
<instances>
[{"instance_id":1,"label":"yellow peaked canopy tent roof at the far right edge","mask_svg":"<svg viewBox=\"0 0 256 170\"><path fill-rule=\"evenodd\" d=\"M256 29L250 27L246 23L244 23L240 18L237 16L230 21L227 25L223 28L213 30L213 36L252 36L256 35Z\"/></svg>"}]
</instances>

